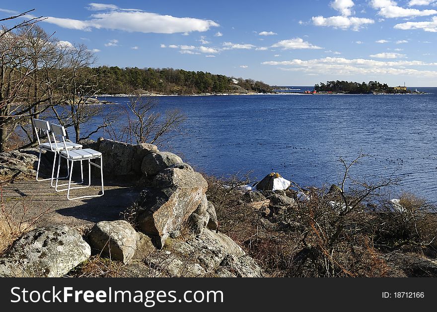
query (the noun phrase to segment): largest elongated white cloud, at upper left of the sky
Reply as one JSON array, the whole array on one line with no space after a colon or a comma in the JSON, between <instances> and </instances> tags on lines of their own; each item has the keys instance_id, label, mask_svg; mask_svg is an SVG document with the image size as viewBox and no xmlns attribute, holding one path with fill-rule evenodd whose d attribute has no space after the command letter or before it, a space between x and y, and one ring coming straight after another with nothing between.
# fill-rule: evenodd
<instances>
[{"instance_id":1,"label":"largest elongated white cloud, at upper left of the sky","mask_svg":"<svg viewBox=\"0 0 437 312\"><path fill-rule=\"evenodd\" d=\"M90 31L92 28L103 28L159 34L189 34L193 31L204 32L212 27L219 26L218 23L212 20L160 15L139 9L122 9L113 4L90 3L88 8L99 10L100 12L91 14L91 19L89 20L49 16L43 21L63 28L83 31Z\"/></svg>"}]
</instances>

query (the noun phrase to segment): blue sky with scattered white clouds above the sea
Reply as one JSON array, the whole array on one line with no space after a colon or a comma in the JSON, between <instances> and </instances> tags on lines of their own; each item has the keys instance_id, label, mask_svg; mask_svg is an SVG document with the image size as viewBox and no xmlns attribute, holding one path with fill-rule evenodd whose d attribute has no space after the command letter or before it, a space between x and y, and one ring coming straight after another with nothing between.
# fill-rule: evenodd
<instances>
[{"instance_id":1,"label":"blue sky with scattered white clouds above the sea","mask_svg":"<svg viewBox=\"0 0 437 312\"><path fill-rule=\"evenodd\" d=\"M96 65L173 67L271 85L437 86L437 0L4 1ZM68 44L68 43L66 43Z\"/></svg>"}]
</instances>

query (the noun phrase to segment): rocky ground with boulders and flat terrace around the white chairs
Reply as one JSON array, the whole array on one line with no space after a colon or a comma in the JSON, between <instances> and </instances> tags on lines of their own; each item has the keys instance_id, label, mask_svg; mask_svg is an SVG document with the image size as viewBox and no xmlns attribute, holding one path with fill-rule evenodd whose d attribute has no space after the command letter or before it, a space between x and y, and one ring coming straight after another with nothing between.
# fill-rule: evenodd
<instances>
[{"instance_id":1,"label":"rocky ground with boulders and flat terrace around the white chairs","mask_svg":"<svg viewBox=\"0 0 437 312\"><path fill-rule=\"evenodd\" d=\"M116 276L264 276L218 232L207 182L180 157L152 145L83 144L103 154L104 196L68 201L35 181L37 150L0 155L3 217L28 228L1 255L1 276L64 276L93 255L118 262ZM74 192L98 194L99 181Z\"/></svg>"}]
</instances>

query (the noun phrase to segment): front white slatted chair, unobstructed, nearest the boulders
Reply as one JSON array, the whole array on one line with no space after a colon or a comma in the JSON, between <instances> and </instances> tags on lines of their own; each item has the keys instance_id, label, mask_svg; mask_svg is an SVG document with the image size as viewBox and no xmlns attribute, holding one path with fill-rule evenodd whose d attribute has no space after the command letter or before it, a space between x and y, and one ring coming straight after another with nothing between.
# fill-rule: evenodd
<instances>
[{"instance_id":1,"label":"front white slatted chair, unobstructed, nearest the boulders","mask_svg":"<svg viewBox=\"0 0 437 312\"><path fill-rule=\"evenodd\" d=\"M53 137L54 137L55 143L56 143L55 135L62 137L62 141L63 141L65 148L64 148L64 150L60 151L59 156L61 158L65 158L67 160L67 162L71 162L70 173L69 173L69 183L65 183L65 184L58 184L58 181L60 179L59 178L59 169L61 167L61 162L58 163L58 173L56 175L55 191L56 192L67 191L67 199L68 200L76 200L76 199L82 199L82 198L91 198L91 197L102 196L104 194L102 153L95 151L95 150L92 150L92 149L70 150L70 149L68 149L68 146L67 146L68 142L66 141L67 133L65 131L65 128L63 126L57 125L57 124L50 124L50 127L51 127L53 135L54 135ZM99 158L100 158L100 165L91 161L91 159L99 159ZM80 161L80 174L81 174L81 178L82 178L82 181L80 183L83 183L83 164L82 164L83 160L88 160L88 185L72 187L72 184L74 184L74 183L72 183L74 161ZM85 195L85 196L70 198L70 190L83 189L83 188L87 188L91 185L91 165L93 165L97 168L100 168L100 177L101 177L101 181L102 181L102 194ZM76 183L76 184L80 184L80 183ZM67 185L68 185L67 188L58 189L58 187L63 187L63 186L67 186Z\"/></svg>"}]
</instances>

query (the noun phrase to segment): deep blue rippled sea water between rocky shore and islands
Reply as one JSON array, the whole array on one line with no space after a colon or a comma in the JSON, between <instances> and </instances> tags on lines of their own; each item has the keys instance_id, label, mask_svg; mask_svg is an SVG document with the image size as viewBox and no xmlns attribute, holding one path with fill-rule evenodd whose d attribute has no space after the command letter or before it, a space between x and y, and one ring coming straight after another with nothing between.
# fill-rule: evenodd
<instances>
[{"instance_id":1,"label":"deep blue rippled sea water between rocky shore and islands","mask_svg":"<svg viewBox=\"0 0 437 312\"><path fill-rule=\"evenodd\" d=\"M366 154L352 177L400 178L395 194L437 202L437 88L417 89L427 94L159 97L159 109L179 108L187 116L186 135L168 147L199 171L252 171L258 179L274 171L302 186L321 186L343 178L340 157L350 162Z\"/></svg>"}]
</instances>

